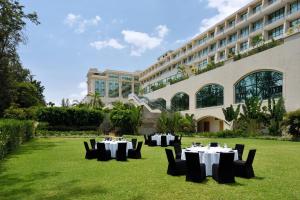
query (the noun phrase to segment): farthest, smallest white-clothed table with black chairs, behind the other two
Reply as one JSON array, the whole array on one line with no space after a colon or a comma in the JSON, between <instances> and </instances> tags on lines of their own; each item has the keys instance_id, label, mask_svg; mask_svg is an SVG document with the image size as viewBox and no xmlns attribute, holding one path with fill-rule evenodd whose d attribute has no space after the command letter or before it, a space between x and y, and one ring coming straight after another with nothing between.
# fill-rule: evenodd
<instances>
[{"instance_id":1,"label":"farthest, smallest white-clothed table with black chairs, behind the other two","mask_svg":"<svg viewBox=\"0 0 300 200\"><path fill-rule=\"evenodd\" d=\"M173 146L175 143L181 144L182 136L174 135L171 133L154 133L144 135L145 144L148 146Z\"/></svg>"}]
</instances>

